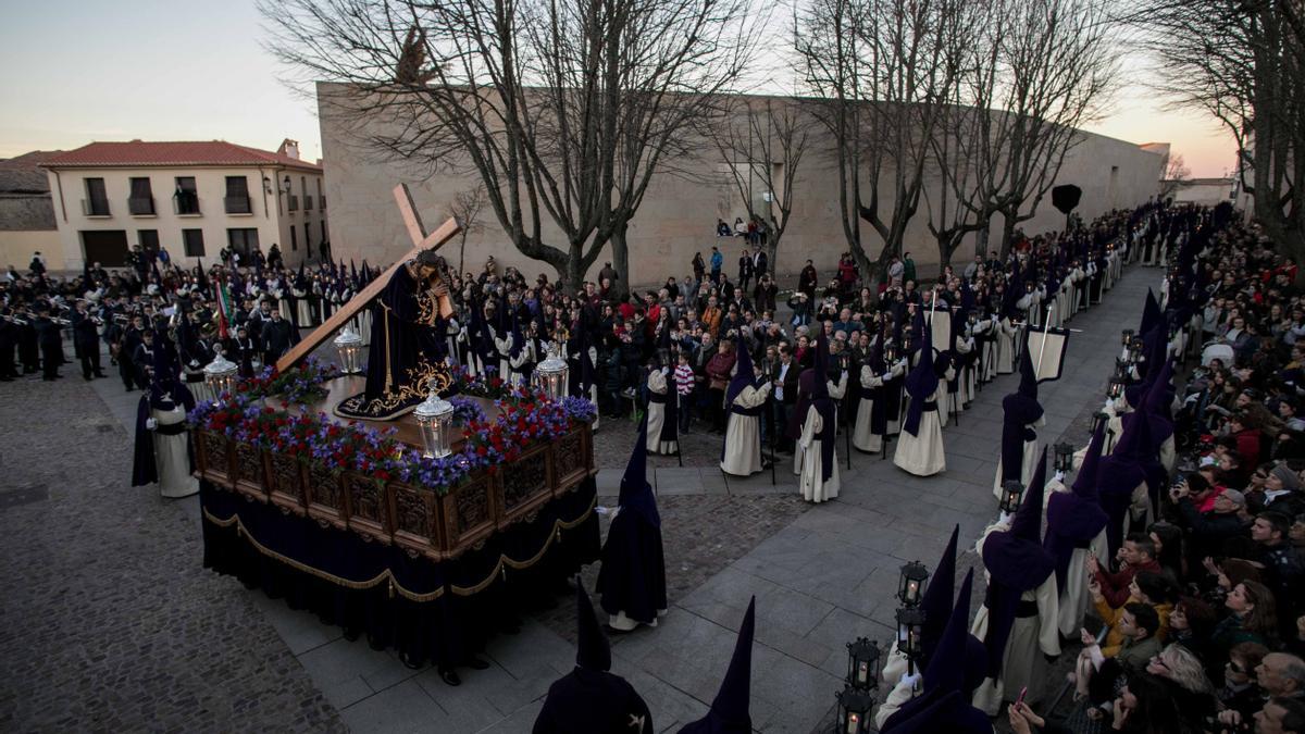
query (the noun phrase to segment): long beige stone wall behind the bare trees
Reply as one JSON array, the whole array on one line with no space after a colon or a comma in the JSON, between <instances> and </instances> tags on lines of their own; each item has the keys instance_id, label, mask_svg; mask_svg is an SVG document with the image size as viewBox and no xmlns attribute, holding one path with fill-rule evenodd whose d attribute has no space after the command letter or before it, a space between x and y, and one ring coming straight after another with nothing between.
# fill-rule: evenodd
<instances>
[{"instance_id":1,"label":"long beige stone wall behind the bare trees","mask_svg":"<svg viewBox=\"0 0 1305 734\"><path fill-rule=\"evenodd\" d=\"M326 94L324 95L324 90ZM318 86L318 114L321 120L322 150L326 168L326 196L331 201L331 244L337 257L367 259L372 264L389 263L411 247L392 193L397 183L406 182L412 192L427 229L433 230L449 213L449 204L459 191L478 184L474 172L440 172L414 170L408 165L388 161L365 149L360 133L381 127L380 121L343 119L326 102L333 88ZM780 99L791 103L791 99ZM822 277L827 277L847 249L838 212L837 167L830 154L831 138L818 124L809 125L812 142L808 148L795 185L793 213L788 231L779 246L776 272L792 276L805 260L814 260ZM711 247L720 244L726 255L726 269L733 274L740 255L740 240L718 243L716 218L733 222L746 217L728 172L728 165L713 157L703 145L703 157L697 161L679 161L689 175L659 174L650 184L638 215L628 235L630 246L630 278L637 285L662 282L667 276L684 277L690 272L694 252L709 257ZM1077 210L1084 219L1103 212L1133 206L1154 196L1161 174L1163 157L1122 140L1083 133L1081 142L1069 153L1057 184L1073 183L1083 189ZM937 172L930 174L937 192ZM934 196L934 201L937 197ZM885 210L893 201L882 202ZM929 209L924 199L911 222L904 249L921 268L937 265L938 252L928 230ZM543 214L542 236L549 244L564 244L560 232ZM556 273L544 263L534 261L517 252L508 242L492 210L483 214L482 232L467 238L466 269L479 272L485 257L493 255L502 265L519 268L532 281L538 273L553 279ZM1064 215L1051 205L1051 196L1041 202L1037 215L1023 222L1027 234L1057 230ZM1001 235L1001 219L993 223L993 239ZM873 230L861 223L863 242L872 253L878 252ZM458 243L448 246L446 257L454 265L459 261ZM609 251L608 251L609 252ZM590 276L596 274L608 252L598 259ZM974 246L967 243L954 255L954 261L968 261Z\"/></svg>"}]
</instances>

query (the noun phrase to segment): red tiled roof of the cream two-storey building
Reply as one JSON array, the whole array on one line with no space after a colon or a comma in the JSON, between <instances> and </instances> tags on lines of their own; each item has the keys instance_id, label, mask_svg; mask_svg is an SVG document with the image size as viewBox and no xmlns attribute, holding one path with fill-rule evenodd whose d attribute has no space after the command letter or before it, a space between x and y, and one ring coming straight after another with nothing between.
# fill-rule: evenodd
<instances>
[{"instance_id":1,"label":"red tiled roof of the cream two-storey building","mask_svg":"<svg viewBox=\"0 0 1305 734\"><path fill-rule=\"evenodd\" d=\"M42 163L47 168L134 166L290 166L321 171L321 166L247 148L224 140L197 142L91 142Z\"/></svg>"}]
</instances>

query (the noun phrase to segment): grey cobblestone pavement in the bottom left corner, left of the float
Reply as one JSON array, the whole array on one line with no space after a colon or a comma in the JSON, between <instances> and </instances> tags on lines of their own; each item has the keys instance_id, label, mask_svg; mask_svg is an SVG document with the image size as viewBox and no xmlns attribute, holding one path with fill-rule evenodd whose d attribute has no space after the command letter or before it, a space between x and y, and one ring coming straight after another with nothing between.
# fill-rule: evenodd
<instances>
[{"instance_id":1,"label":"grey cobblestone pavement in the bottom left corner, left of the float","mask_svg":"<svg viewBox=\"0 0 1305 734\"><path fill-rule=\"evenodd\" d=\"M0 730L342 731L68 367L0 385Z\"/></svg>"}]
</instances>

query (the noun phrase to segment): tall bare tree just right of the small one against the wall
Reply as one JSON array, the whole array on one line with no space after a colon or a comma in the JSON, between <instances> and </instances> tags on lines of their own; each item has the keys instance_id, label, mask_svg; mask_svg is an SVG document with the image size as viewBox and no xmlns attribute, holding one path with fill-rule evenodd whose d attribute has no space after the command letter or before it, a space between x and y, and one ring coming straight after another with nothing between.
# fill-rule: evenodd
<instances>
[{"instance_id":1,"label":"tall bare tree just right of the small one against the wall","mask_svg":"<svg viewBox=\"0 0 1305 734\"><path fill-rule=\"evenodd\" d=\"M868 278L902 251L919 210L933 136L962 72L964 5L812 0L795 18L799 72L833 137L843 234ZM874 260L863 221L882 243Z\"/></svg>"}]
</instances>

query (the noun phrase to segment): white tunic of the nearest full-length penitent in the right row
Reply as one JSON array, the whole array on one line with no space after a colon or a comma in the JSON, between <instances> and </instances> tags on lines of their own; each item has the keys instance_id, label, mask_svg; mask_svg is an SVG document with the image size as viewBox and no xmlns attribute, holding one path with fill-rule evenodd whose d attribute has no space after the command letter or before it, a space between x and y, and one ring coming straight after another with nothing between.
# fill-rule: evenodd
<instances>
[{"instance_id":1,"label":"white tunic of the nearest full-length penitent in the right row","mask_svg":"<svg viewBox=\"0 0 1305 734\"><path fill-rule=\"evenodd\" d=\"M1007 529L1002 524L989 525L984 530L983 538L975 546L975 551L983 558L983 543L993 530ZM984 572L987 577L988 572ZM1021 601L1036 601L1037 616L1017 616L1006 640L1006 650L1001 658L1001 677L985 678L979 690L975 691L974 705L983 709L988 716L997 716L1002 701L1014 701L1019 691L1028 687L1026 701L1031 704L1041 700L1047 683L1044 654L1060 654L1060 630L1057 620L1060 616L1060 599L1056 593L1056 573L1047 576L1036 589L1024 592ZM988 633L988 605L979 607L975 622L970 627L970 633L980 640Z\"/></svg>"}]
</instances>

